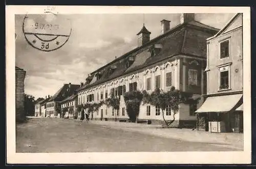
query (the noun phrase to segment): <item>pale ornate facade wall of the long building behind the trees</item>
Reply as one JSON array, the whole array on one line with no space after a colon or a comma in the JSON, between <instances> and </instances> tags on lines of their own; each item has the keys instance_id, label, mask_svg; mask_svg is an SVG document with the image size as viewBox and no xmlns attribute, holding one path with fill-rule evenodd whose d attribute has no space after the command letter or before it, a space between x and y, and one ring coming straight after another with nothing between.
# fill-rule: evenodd
<instances>
[{"instance_id":1,"label":"pale ornate facade wall of the long building behind the trees","mask_svg":"<svg viewBox=\"0 0 256 169\"><path fill-rule=\"evenodd\" d=\"M202 88L203 88L203 82L201 80L201 75L203 73L203 62L204 59L196 60L198 64L194 64L194 60L187 59L186 63L191 63L190 65L186 66L183 64L183 59L177 59L177 60L169 60L169 61L163 61L161 63L157 63L155 65L152 65L150 67L144 68L143 70L140 70L140 72L136 72L134 74L127 74L121 77L118 77L116 79L113 79L111 81L108 81L106 83L103 83L99 86L95 86L90 89L86 89L83 91L78 92L78 104L84 104L87 103L87 96L90 94L94 94L94 101L90 102L99 102L100 99L100 93L103 92L103 100L105 99L105 91L108 91L108 97L111 97L111 89L117 88L118 86L125 86L126 92L129 91L129 83L137 82L137 90L146 90L147 89L147 83L146 79L151 78L151 88L150 90L146 90L148 93L152 93L156 88L156 75L161 75L161 82L160 82L160 89L163 91L168 91L172 86L174 86L176 89L179 89L181 91L189 91L193 92L195 94L201 94ZM184 69L186 67L186 69ZM198 86L196 89L194 88L188 88L188 68L193 68L198 70ZM172 85L166 86L166 73L172 72ZM184 81L184 85L182 83ZM97 97L97 94L99 95L99 99ZM196 95L198 96L198 95ZM120 99L120 108L119 108L119 116L116 116L116 110L114 112L114 116L112 116L112 107L106 107L105 105L102 105L98 112L93 112L93 118L100 119L101 118L101 109L103 109L103 119L129 119L129 116L127 116L126 108L125 108L125 116L122 116L122 107L125 107L125 103L123 100L123 97L121 96ZM105 110L107 110L108 114L105 115ZM86 110L87 111L87 110ZM166 116L165 110L164 110L164 117L166 120L173 120L173 112L170 116ZM180 110L175 115L175 120L179 120L180 117L182 117L182 120L193 120L196 121L196 117L190 117L189 116L189 106L188 105L181 105ZM91 117L90 117L91 118ZM155 106L151 105L151 115L146 115L146 105L140 105L140 113L138 116L138 119L151 119L151 120L157 120L162 121L162 111L160 111L160 115L156 116L156 108Z\"/></svg>"}]
</instances>

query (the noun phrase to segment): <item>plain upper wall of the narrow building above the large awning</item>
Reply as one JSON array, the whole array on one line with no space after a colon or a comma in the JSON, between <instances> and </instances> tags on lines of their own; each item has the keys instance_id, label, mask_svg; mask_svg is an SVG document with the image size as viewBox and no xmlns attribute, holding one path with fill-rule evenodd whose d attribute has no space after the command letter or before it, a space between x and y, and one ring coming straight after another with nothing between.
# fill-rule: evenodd
<instances>
[{"instance_id":1,"label":"plain upper wall of the narrow building above the large awning","mask_svg":"<svg viewBox=\"0 0 256 169\"><path fill-rule=\"evenodd\" d=\"M243 90L242 27L218 36L208 42L207 94ZM229 39L229 57L220 59L220 42ZM230 64L230 89L219 90L219 68Z\"/></svg>"}]
</instances>

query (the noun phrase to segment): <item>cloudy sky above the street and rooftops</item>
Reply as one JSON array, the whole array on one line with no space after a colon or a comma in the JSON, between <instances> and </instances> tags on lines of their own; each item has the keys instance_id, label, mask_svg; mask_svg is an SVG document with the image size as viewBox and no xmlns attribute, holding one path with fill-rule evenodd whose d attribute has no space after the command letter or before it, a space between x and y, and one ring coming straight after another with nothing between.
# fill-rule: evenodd
<instances>
[{"instance_id":1,"label":"cloudy sky above the street and rooftops","mask_svg":"<svg viewBox=\"0 0 256 169\"><path fill-rule=\"evenodd\" d=\"M196 14L195 20L222 29L234 16ZM145 23L151 39L161 33L162 19L170 27L180 23L180 14L72 14L69 40L54 51L33 48L25 39L25 15L15 15L15 65L26 71L25 93L35 98L54 95L64 83L80 85L88 74L137 47L137 33ZM61 16L63 17L63 16Z\"/></svg>"}]
</instances>

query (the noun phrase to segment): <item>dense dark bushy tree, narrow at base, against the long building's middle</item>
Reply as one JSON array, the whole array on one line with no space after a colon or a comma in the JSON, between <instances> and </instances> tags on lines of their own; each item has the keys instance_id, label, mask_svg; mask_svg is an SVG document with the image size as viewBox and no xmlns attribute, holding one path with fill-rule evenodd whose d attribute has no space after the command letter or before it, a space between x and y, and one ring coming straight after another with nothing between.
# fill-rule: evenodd
<instances>
[{"instance_id":1,"label":"dense dark bushy tree, narrow at base, against the long building's middle","mask_svg":"<svg viewBox=\"0 0 256 169\"><path fill-rule=\"evenodd\" d=\"M132 122L136 122L139 116L140 103L143 99L143 94L140 91L126 92L123 95L126 105L127 115Z\"/></svg>"}]
</instances>

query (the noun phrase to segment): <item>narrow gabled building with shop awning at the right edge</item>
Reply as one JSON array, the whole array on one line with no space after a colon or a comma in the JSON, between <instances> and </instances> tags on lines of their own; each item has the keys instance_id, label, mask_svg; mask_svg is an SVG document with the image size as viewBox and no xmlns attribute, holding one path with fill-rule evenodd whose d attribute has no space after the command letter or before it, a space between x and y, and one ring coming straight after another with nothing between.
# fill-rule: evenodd
<instances>
[{"instance_id":1,"label":"narrow gabled building with shop awning at the right edge","mask_svg":"<svg viewBox=\"0 0 256 169\"><path fill-rule=\"evenodd\" d=\"M236 14L223 29L207 39L207 93L205 102L196 111L198 129L243 132L242 17L241 13ZM212 127L213 124L218 127Z\"/></svg>"}]
</instances>

